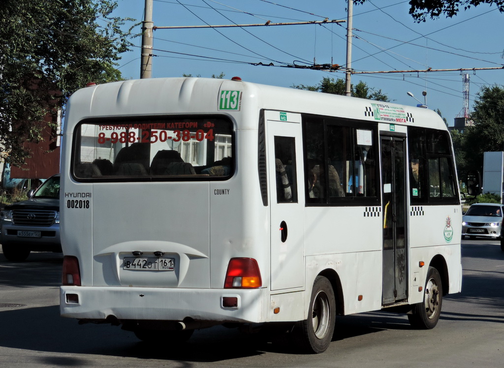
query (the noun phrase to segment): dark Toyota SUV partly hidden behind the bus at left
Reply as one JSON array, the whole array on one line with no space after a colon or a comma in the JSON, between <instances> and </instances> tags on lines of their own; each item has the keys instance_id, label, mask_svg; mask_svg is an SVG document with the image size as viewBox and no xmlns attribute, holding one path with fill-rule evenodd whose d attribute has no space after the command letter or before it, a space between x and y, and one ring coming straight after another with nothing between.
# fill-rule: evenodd
<instances>
[{"instance_id":1,"label":"dark Toyota SUV partly hidden behind the bus at left","mask_svg":"<svg viewBox=\"0 0 504 368\"><path fill-rule=\"evenodd\" d=\"M24 261L31 251L61 252L59 240L59 174L48 178L26 201L6 206L2 250L9 261Z\"/></svg>"}]
</instances>

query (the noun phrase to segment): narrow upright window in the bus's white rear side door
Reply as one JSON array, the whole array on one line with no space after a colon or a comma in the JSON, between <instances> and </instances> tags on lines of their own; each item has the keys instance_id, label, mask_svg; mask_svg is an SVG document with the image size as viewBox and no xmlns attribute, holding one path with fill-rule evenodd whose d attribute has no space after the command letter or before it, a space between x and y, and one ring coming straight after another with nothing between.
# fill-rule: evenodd
<instances>
[{"instance_id":1,"label":"narrow upright window in the bus's white rear side door","mask_svg":"<svg viewBox=\"0 0 504 368\"><path fill-rule=\"evenodd\" d=\"M275 136L277 203L297 202L295 138Z\"/></svg>"}]
</instances>

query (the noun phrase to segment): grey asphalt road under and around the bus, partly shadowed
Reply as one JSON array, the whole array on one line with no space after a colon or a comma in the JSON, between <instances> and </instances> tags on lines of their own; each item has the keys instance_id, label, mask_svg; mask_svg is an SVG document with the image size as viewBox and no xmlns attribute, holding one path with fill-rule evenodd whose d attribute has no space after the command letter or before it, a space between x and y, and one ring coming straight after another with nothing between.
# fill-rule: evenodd
<instances>
[{"instance_id":1,"label":"grey asphalt road under and around the bus, partly shadowed","mask_svg":"<svg viewBox=\"0 0 504 368\"><path fill-rule=\"evenodd\" d=\"M504 252L497 241L463 240L463 292L448 295L433 330L403 315L339 317L329 349L297 354L284 335L198 330L182 347L155 346L110 325L59 317L62 256L0 254L0 366L3 367L495 367L504 361Z\"/></svg>"}]
</instances>

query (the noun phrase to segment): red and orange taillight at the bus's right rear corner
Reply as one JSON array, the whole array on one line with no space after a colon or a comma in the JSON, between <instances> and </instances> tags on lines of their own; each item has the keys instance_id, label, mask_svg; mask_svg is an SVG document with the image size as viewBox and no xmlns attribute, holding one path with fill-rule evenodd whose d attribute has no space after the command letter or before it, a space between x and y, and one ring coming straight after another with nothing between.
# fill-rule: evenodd
<instances>
[{"instance_id":1,"label":"red and orange taillight at the bus's right rear corner","mask_svg":"<svg viewBox=\"0 0 504 368\"><path fill-rule=\"evenodd\" d=\"M225 288L257 288L263 286L261 272L253 258L232 258L227 266Z\"/></svg>"}]
</instances>

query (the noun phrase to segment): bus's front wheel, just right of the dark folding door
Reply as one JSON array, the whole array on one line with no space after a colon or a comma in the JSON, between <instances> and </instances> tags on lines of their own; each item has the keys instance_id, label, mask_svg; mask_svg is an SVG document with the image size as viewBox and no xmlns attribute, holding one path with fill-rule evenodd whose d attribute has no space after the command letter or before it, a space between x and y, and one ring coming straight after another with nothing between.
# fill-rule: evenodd
<instances>
[{"instance_id":1,"label":"bus's front wheel, just right of the dark folding door","mask_svg":"<svg viewBox=\"0 0 504 368\"><path fill-rule=\"evenodd\" d=\"M423 294L423 301L413 306L413 313L408 315L411 327L430 330L437 325L443 304L443 285L439 272L434 267L427 271L427 280Z\"/></svg>"}]
</instances>

